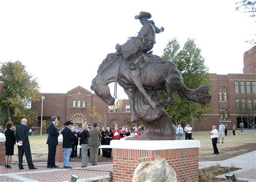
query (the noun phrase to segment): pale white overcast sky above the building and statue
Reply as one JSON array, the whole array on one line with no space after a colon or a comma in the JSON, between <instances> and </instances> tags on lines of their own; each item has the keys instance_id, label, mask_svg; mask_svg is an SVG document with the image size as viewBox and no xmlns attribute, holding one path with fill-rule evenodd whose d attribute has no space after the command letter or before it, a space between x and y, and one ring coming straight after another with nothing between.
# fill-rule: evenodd
<instances>
[{"instance_id":1,"label":"pale white overcast sky above the building and statue","mask_svg":"<svg viewBox=\"0 0 256 182\"><path fill-rule=\"evenodd\" d=\"M194 39L210 73L242 73L245 43L255 34L254 19L227 1L0 1L0 62L21 61L37 78L41 93L66 93L91 80L106 54L135 36L134 19L150 12L156 26L153 54L161 56L169 40L180 47ZM113 84L110 85L113 93ZM127 99L119 86L117 96Z\"/></svg>"}]
</instances>

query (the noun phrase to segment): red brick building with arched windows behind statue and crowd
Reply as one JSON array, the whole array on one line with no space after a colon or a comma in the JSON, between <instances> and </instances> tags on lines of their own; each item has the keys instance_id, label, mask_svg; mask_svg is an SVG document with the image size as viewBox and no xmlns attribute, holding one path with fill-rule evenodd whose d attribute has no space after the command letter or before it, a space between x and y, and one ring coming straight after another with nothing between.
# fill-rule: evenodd
<instances>
[{"instance_id":1,"label":"red brick building with arched windows behind statue and crowd","mask_svg":"<svg viewBox=\"0 0 256 182\"><path fill-rule=\"evenodd\" d=\"M244 53L244 73L218 75L211 73L212 112L205 115L203 123L194 122L194 131L210 130L212 125L219 125L220 121L228 124L231 129L233 124L238 127L241 121L248 117L256 121L256 46ZM96 118L90 116L90 106L102 115L99 123L103 125L128 125L131 123L129 100L122 100L120 112L109 112L105 102L96 94L92 94L83 87L76 87L65 94L42 94L43 101L43 127L50 121L52 115L59 117L60 126L65 121L71 120L75 125L83 122L93 123ZM38 122L34 126L41 126L41 105L38 101L33 106L38 107ZM247 123L244 122L245 127ZM146 125L146 124L145 124Z\"/></svg>"}]
</instances>

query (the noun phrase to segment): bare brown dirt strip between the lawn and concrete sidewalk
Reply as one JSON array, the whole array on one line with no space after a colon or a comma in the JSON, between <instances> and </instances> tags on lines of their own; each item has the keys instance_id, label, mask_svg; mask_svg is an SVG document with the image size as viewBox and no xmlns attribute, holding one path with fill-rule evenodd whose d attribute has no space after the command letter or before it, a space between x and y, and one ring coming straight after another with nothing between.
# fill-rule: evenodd
<instances>
[{"instance_id":1,"label":"bare brown dirt strip between the lawn and concrete sidewalk","mask_svg":"<svg viewBox=\"0 0 256 182\"><path fill-rule=\"evenodd\" d=\"M220 160L226 160L232 157L236 157L239 155L242 155L244 153L252 152L256 150L255 143L246 143L239 146L229 146L228 148L225 148L225 152L219 151L219 155L211 155L213 153L205 153L201 152L199 153L199 161L220 161Z\"/></svg>"}]
</instances>

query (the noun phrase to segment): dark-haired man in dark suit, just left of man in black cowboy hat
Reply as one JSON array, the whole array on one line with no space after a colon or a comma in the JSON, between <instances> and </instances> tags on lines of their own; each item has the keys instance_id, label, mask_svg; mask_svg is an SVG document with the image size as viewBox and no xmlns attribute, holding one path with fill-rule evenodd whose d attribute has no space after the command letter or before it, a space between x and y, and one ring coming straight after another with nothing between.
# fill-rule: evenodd
<instances>
[{"instance_id":1,"label":"dark-haired man in dark suit, just left of man in black cowboy hat","mask_svg":"<svg viewBox=\"0 0 256 182\"><path fill-rule=\"evenodd\" d=\"M58 145L58 136L60 134L56 127L57 121L57 116L51 116L51 122L48 125L48 138L46 142L46 144L48 144L48 168L59 167L55 165L56 148Z\"/></svg>"}]
</instances>

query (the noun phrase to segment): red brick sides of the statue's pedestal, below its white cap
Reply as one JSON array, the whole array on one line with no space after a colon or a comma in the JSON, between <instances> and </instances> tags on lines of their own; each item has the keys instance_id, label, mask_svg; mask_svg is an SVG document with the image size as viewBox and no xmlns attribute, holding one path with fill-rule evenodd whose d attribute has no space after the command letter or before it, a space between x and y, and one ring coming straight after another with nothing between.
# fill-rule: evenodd
<instances>
[{"instance_id":1,"label":"red brick sides of the statue's pedestal, below its white cap","mask_svg":"<svg viewBox=\"0 0 256 182\"><path fill-rule=\"evenodd\" d=\"M176 172L177 181L198 181L199 148L167 150L113 149L113 181L132 181L133 173L141 162L165 158Z\"/></svg>"}]
</instances>

